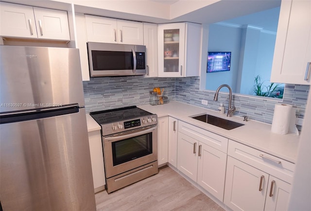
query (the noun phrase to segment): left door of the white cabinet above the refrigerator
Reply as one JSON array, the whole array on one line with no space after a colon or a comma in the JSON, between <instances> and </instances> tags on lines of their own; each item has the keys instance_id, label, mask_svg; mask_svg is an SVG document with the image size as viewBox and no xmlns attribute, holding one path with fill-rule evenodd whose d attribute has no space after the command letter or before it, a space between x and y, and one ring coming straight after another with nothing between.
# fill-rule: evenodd
<instances>
[{"instance_id":1,"label":"left door of the white cabinet above the refrigerator","mask_svg":"<svg viewBox=\"0 0 311 211\"><path fill-rule=\"evenodd\" d=\"M37 38L31 6L0 2L0 35Z\"/></svg>"}]
</instances>

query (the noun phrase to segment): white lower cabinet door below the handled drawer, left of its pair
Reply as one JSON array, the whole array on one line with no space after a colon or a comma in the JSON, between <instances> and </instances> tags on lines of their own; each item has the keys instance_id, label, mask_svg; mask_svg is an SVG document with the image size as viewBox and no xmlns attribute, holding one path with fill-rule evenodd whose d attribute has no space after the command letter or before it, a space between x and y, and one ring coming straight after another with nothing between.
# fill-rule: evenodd
<instances>
[{"instance_id":1,"label":"white lower cabinet door below the handled drawer, left of its pair","mask_svg":"<svg viewBox=\"0 0 311 211\"><path fill-rule=\"evenodd\" d=\"M268 174L228 156L225 205L232 210L263 211L268 179Z\"/></svg>"}]
</instances>

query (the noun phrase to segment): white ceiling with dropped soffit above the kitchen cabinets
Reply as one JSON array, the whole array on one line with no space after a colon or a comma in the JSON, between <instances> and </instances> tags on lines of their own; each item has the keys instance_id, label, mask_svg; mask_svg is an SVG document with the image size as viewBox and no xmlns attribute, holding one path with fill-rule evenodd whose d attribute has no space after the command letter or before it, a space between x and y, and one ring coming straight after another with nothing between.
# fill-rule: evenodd
<instances>
[{"instance_id":1,"label":"white ceiling with dropped soffit above the kitchen cabinets","mask_svg":"<svg viewBox=\"0 0 311 211\"><path fill-rule=\"evenodd\" d=\"M2 0L1 0L2 1ZM3 0L151 23L210 24L280 6L281 0ZM67 7L67 8L66 8ZM69 8L69 9L68 9Z\"/></svg>"}]
</instances>

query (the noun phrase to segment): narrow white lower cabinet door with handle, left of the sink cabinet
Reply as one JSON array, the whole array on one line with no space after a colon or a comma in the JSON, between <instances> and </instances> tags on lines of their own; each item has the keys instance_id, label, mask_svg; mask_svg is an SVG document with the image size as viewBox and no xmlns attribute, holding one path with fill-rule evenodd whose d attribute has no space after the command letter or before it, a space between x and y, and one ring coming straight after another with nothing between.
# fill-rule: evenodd
<instances>
[{"instance_id":1,"label":"narrow white lower cabinet door with handle, left of the sink cabinet","mask_svg":"<svg viewBox=\"0 0 311 211\"><path fill-rule=\"evenodd\" d=\"M169 163L177 168L178 120L169 116Z\"/></svg>"}]
</instances>

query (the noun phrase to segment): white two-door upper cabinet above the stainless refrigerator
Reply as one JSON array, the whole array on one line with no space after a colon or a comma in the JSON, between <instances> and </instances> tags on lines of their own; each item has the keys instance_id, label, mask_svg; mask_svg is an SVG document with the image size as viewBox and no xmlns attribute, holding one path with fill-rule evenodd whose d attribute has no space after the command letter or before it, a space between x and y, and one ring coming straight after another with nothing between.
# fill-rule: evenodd
<instances>
[{"instance_id":1,"label":"white two-door upper cabinet above the stainless refrigerator","mask_svg":"<svg viewBox=\"0 0 311 211\"><path fill-rule=\"evenodd\" d=\"M0 35L70 40L66 11L0 2Z\"/></svg>"}]
</instances>

